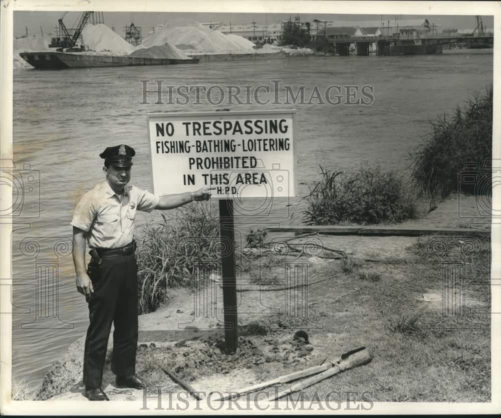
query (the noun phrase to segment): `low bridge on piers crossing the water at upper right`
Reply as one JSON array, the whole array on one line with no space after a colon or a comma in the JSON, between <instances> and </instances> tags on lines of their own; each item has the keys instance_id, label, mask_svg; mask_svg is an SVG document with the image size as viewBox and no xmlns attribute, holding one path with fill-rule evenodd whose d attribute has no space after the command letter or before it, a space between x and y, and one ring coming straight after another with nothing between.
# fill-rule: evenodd
<instances>
[{"instance_id":1,"label":"low bridge on piers crossing the water at upper right","mask_svg":"<svg viewBox=\"0 0 501 418\"><path fill-rule=\"evenodd\" d=\"M347 37L329 40L339 55L349 55L351 44L356 46L356 55L368 56L370 44L376 44L376 55L423 55L436 54L442 51L442 46L466 43L471 48L490 48L494 44L492 33L476 34L435 34L419 37L402 34L379 35L365 37Z\"/></svg>"}]
</instances>

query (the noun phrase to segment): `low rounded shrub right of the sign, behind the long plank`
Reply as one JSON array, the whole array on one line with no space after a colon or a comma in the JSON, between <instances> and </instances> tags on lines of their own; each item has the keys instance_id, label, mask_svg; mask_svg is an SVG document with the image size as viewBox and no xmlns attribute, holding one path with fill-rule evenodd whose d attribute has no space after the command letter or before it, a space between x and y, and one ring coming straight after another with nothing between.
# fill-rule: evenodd
<instances>
[{"instance_id":1,"label":"low rounded shrub right of the sign, behind the long plank","mask_svg":"<svg viewBox=\"0 0 501 418\"><path fill-rule=\"evenodd\" d=\"M306 197L303 219L308 225L401 222L417 216L410 189L395 171L379 164L361 166L348 175L320 169L322 178Z\"/></svg>"}]
</instances>

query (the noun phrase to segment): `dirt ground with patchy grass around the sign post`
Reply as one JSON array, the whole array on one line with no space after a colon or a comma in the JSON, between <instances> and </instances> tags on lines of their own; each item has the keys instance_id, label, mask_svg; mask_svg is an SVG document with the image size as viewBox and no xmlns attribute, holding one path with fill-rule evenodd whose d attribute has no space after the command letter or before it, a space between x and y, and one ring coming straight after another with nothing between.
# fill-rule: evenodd
<instances>
[{"instance_id":1,"label":"dirt ground with patchy grass around the sign post","mask_svg":"<svg viewBox=\"0 0 501 418\"><path fill-rule=\"evenodd\" d=\"M490 219L475 217L477 210L474 197L453 195L426 217L401 225L489 229ZM430 252L429 237L313 236L292 241L300 252L254 256L248 271L237 273L234 354L224 349L220 280L212 276L196 292L170 289L165 306L139 317L137 372L148 390L183 391L160 369L166 367L207 396L366 346L371 363L306 388L301 396L336 391L331 399L346 400L352 392L355 400L488 401L490 243L475 241L475 249L464 253L464 239L440 241L445 252L437 254ZM312 242L342 250L349 260ZM461 286L454 280L462 280ZM294 338L299 330L308 341ZM113 386L110 358L103 385L110 398L141 400L142 391ZM82 399L80 386L56 398Z\"/></svg>"}]
</instances>

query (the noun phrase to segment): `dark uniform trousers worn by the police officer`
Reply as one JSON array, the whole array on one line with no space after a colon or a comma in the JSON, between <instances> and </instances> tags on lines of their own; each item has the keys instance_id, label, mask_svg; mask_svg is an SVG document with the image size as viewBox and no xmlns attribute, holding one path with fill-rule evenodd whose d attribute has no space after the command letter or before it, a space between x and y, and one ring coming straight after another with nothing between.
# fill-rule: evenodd
<instances>
[{"instance_id":1,"label":"dark uniform trousers worn by the police officer","mask_svg":"<svg viewBox=\"0 0 501 418\"><path fill-rule=\"evenodd\" d=\"M137 264L134 253L94 259L87 273L94 293L88 299L90 324L84 350L84 383L101 386L108 337L114 323L111 370L118 376L135 373L138 336Z\"/></svg>"}]
</instances>

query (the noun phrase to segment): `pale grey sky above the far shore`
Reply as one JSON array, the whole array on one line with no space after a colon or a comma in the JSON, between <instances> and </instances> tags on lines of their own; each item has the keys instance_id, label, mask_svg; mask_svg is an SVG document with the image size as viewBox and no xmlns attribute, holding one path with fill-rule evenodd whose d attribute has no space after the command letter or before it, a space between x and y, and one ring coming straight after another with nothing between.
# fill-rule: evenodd
<instances>
[{"instance_id":1,"label":"pale grey sky above the far shore","mask_svg":"<svg viewBox=\"0 0 501 418\"><path fill-rule=\"evenodd\" d=\"M64 12L15 12L14 13L14 36L20 37L26 35L44 35L52 32L58 19ZM68 28L74 28L79 18L80 12L68 12L63 22ZM253 21L259 23L285 21L289 17L294 18L294 14L260 14L260 13L131 13L131 12L104 12L105 25L116 28L118 34L122 34L125 25L131 22L135 26L143 28L143 33L149 32L153 27L163 24L168 20L177 18L190 18L200 23L222 22L224 24L242 24ZM341 15L341 14L299 14L301 21L312 21L313 19L328 21L383 21L394 22L395 15ZM443 16L443 15L398 15L398 19L428 19L430 24L442 25L444 28L473 29L475 27L474 16ZM493 17L482 16L483 26L492 30ZM42 30L40 29L42 27Z\"/></svg>"}]
</instances>

